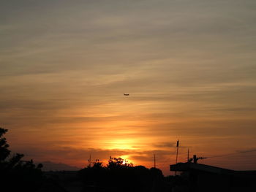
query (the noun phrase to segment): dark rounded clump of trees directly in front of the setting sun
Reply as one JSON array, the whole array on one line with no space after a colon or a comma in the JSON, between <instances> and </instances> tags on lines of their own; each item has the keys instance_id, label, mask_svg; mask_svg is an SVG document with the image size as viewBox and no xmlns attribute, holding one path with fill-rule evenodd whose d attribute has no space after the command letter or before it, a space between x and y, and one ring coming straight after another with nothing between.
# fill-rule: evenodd
<instances>
[{"instance_id":1,"label":"dark rounded clump of trees directly in front of the setting sun","mask_svg":"<svg viewBox=\"0 0 256 192\"><path fill-rule=\"evenodd\" d=\"M107 166L95 161L81 169L79 177L83 191L164 191L164 176L160 169L132 166L122 158L111 158Z\"/></svg>"}]
</instances>

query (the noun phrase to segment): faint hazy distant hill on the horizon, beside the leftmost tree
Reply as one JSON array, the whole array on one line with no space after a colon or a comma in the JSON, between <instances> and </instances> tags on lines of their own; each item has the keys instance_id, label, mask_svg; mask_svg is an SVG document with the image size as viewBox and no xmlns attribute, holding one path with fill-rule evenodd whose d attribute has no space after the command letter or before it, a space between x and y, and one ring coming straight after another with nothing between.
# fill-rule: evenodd
<instances>
[{"instance_id":1,"label":"faint hazy distant hill on the horizon, beside the leftmost tree","mask_svg":"<svg viewBox=\"0 0 256 192\"><path fill-rule=\"evenodd\" d=\"M42 171L48 172L48 171L78 171L80 168L76 166L69 166L67 164L62 164L62 163L54 163L51 161L44 161L40 162L43 167Z\"/></svg>"}]
</instances>

